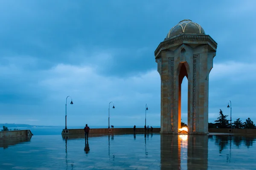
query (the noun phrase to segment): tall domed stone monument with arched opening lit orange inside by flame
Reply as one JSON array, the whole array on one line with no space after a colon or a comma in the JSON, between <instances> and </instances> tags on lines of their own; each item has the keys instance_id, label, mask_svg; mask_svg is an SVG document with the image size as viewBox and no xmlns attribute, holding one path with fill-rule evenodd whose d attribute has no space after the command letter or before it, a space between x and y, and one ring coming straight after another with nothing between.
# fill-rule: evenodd
<instances>
[{"instance_id":1,"label":"tall domed stone monument with arched opening lit orange inside by flame","mask_svg":"<svg viewBox=\"0 0 256 170\"><path fill-rule=\"evenodd\" d=\"M169 30L155 50L161 77L161 131L177 134L181 126L181 83L188 79L188 134L208 133L209 73L217 43L191 20Z\"/></svg>"}]
</instances>

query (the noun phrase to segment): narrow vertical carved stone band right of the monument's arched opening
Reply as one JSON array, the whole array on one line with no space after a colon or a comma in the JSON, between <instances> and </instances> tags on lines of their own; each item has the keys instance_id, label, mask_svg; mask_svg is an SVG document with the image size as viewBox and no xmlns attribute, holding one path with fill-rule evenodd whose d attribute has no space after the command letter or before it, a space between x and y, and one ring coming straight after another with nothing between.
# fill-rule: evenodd
<instances>
[{"instance_id":1,"label":"narrow vertical carved stone band right of the monument's arched opening","mask_svg":"<svg viewBox=\"0 0 256 170\"><path fill-rule=\"evenodd\" d=\"M197 119L197 57L193 57L193 91L192 91L192 129L196 131L196 119Z\"/></svg>"}]
</instances>

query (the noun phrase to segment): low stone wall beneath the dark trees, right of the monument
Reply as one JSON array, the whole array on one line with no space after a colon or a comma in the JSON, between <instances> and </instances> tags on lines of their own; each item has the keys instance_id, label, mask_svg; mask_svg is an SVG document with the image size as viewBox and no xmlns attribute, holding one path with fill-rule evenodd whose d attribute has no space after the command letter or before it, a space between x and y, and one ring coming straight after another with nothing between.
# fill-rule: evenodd
<instances>
[{"instance_id":1,"label":"low stone wall beneath the dark trees, right of the monument","mask_svg":"<svg viewBox=\"0 0 256 170\"><path fill-rule=\"evenodd\" d=\"M230 129L230 128L210 128L209 133L240 133L256 134L256 129Z\"/></svg>"}]
</instances>

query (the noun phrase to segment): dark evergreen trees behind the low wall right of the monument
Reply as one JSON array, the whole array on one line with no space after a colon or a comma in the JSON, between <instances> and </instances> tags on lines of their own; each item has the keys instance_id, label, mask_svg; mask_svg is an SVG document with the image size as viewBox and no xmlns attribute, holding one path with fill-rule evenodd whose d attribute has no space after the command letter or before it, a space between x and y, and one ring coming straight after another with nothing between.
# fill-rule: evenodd
<instances>
[{"instance_id":1,"label":"dark evergreen trees behind the low wall right of the monument","mask_svg":"<svg viewBox=\"0 0 256 170\"><path fill-rule=\"evenodd\" d=\"M233 129L256 129L255 124L250 118L247 118L244 122L237 118L232 124L229 121L227 120L227 115L224 115L220 109L219 117L215 121L216 123L208 123L208 128L230 128L231 125Z\"/></svg>"}]
</instances>

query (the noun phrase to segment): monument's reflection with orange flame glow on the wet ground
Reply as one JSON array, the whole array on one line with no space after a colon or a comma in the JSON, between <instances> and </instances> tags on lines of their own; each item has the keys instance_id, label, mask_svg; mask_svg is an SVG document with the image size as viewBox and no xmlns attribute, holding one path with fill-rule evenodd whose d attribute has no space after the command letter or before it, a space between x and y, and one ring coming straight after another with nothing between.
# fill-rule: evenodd
<instances>
[{"instance_id":1,"label":"monument's reflection with orange flame glow on the wet ground","mask_svg":"<svg viewBox=\"0 0 256 170\"><path fill-rule=\"evenodd\" d=\"M184 164L187 163L188 170L207 170L208 135L161 135L160 138L161 169L179 170L181 161L187 160Z\"/></svg>"}]
</instances>

